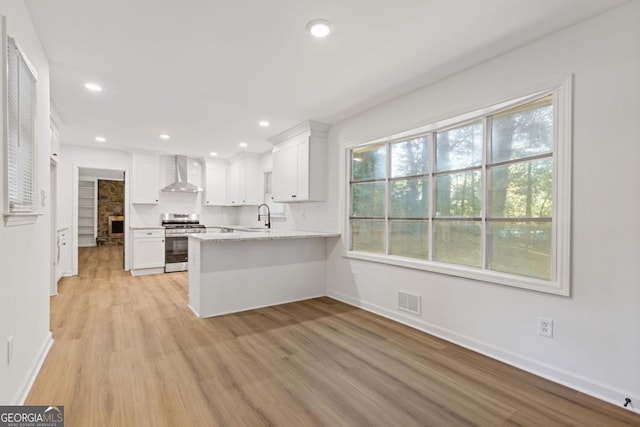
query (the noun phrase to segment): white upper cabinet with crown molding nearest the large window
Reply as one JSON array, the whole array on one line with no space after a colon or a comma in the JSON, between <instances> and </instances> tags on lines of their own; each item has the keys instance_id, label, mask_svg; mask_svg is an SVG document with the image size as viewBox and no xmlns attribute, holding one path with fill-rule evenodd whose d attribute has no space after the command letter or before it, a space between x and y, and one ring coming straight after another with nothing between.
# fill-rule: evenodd
<instances>
[{"instance_id":1,"label":"white upper cabinet with crown molding nearest the large window","mask_svg":"<svg viewBox=\"0 0 640 427\"><path fill-rule=\"evenodd\" d=\"M308 120L271 138L273 200L308 202L325 199L329 125Z\"/></svg>"}]
</instances>

